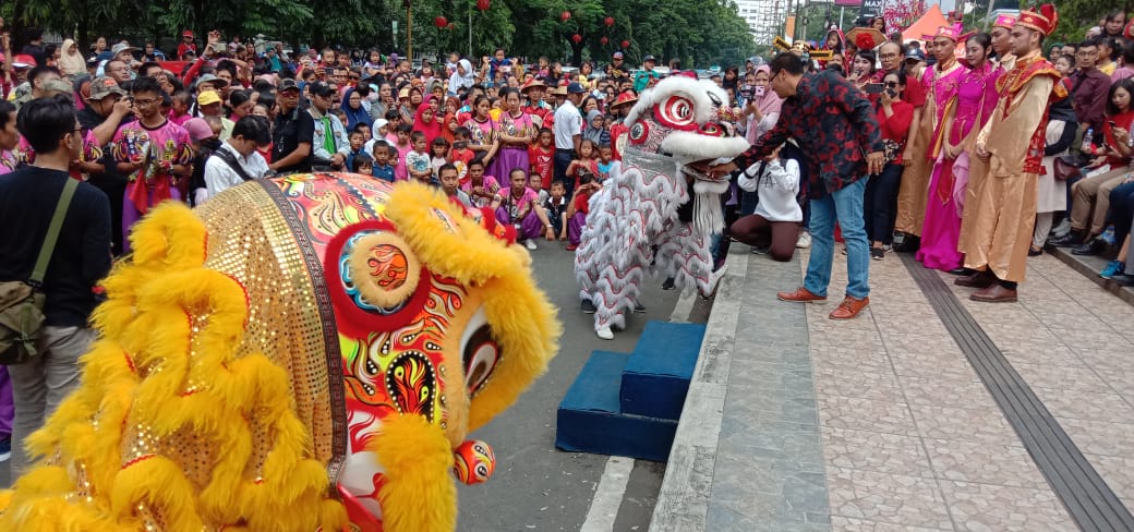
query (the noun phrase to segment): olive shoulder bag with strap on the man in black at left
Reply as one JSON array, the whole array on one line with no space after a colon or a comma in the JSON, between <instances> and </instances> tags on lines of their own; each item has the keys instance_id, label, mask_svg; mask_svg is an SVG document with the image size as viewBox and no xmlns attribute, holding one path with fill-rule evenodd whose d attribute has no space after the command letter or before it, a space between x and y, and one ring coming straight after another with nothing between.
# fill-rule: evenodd
<instances>
[{"instance_id":1,"label":"olive shoulder bag with strap on the man in black at left","mask_svg":"<svg viewBox=\"0 0 1134 532\"><path fill-rule=\"evenodd\" d=\"M39 340L43 331L43 304L46 294L43 293L43 277L48 272L51 254L59 239L67 208L78 181L67 178L64 193L56 203L56 212L51 217L48 235L40 246L35 259L32 277L27 281L0 282L0 364L18 365L32 357L39 356Z\"/></svg>"}]
</instances>

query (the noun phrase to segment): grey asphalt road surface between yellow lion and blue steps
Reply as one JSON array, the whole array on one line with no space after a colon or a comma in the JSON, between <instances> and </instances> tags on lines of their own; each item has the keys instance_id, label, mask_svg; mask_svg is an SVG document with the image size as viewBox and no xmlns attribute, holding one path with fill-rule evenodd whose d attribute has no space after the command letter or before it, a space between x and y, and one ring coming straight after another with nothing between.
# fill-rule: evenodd
<instances>
[{"instance_id":1,"label":"grey asphalt road surface between yellow lion and blue steps","mask_svg":"<svg viewBox=\"0 0 1134 532\"><path fill-rule=\"evenodd\" d=\"M634 314L613 340L594 336L593 316L578 310L573 255L561 243L541 240L532 252L539 286L559 307L564 336L547 372L510 409L471 434L496 450L497 470L489 482L460 487L462 532L577 531L586 518L607 456L564 453L555 448L556 409L594 349L628 353L648 320L669 320L676 292L662 292L662 279L648 278L642 290L646 312ZM708 305L697 301L693 321ZM699 319L700 316L700 319ZM0 463L0 488L10 483ZM619 507L616 531L644 531L665 474L665 464L635 462Z\"/></svg>"}]
</instances>

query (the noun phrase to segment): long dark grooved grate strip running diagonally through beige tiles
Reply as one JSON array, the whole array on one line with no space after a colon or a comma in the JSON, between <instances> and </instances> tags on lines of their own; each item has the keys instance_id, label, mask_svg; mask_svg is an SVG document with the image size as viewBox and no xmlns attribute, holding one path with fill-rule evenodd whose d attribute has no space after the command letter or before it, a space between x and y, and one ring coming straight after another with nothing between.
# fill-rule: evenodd
<instances>
[{"instance_id":1,"label":"long dark grooved grate strip running diagonally through beige tiles","mask_svg":"<svg viewBox=\"0 0 1134 532\"><path fill-rule=\"evenodd\" d=\"M900 256L1080 529L1134 530L1129 509L1118 500L945 281L936 271L917 263L913 254Z\"/></svg>"}]
</instances>

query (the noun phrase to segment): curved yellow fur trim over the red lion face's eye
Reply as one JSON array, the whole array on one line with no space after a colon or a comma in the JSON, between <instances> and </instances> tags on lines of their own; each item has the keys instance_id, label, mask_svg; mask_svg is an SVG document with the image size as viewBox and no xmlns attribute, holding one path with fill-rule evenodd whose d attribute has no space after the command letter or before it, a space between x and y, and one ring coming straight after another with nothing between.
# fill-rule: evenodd
<instances>
[{"instance_id":1,"label":"curved yellow fur trim over the red lion face's eye","mask_svg":"<svg viewBox=\"0 0 1134 532\"><path fill-rule=\"evenodd\" d=\"M433 209L455 221L456 230L450 230ZM501 357L492 377L472 398L468 430L476 430L515 403L547 371L562 333L555 307L533 284L526 251L489 235L434 188L399 183L390 192L384 214L431 271L484 287L484 311Z\"/></svg>"}]
</instances>

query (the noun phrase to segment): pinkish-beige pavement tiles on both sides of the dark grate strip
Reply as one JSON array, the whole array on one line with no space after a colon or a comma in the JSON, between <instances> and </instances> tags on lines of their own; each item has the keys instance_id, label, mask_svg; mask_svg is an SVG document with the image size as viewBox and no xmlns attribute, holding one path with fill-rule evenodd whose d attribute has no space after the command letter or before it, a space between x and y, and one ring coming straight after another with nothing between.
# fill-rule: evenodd
<instances>
[{"instance_id":1,"label":"pinkish-beige pavement tiles on both sides of the dark grate strip","mask_svg":"<svg viewBox=\"0 0 1134 532\"><path fill-rule=\"evenodd\" d=\"M807 309L832 530L1078 530L900 259L871 267L866 315ZM940 276L1134 507L1134 307L1049 255L1017 304Z\"/></svg>"}]
</instances>

